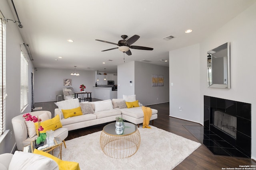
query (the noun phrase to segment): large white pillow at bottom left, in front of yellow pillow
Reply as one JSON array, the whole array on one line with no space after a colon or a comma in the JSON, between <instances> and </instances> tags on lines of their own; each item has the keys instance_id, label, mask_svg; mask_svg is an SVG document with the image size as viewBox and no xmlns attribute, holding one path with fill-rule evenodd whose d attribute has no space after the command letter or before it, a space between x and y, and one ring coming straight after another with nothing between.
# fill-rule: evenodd
<instances>
[{"instance_id":1,"label":"large white pillow at bottom left, in front of yellow pillow","mask_svg":"<svg viewBox=\"0 0 256 170\"><path fill-rule=\"evenodd\" d=\"M16 150L8 170L59 170L59 166L46 156Z\"/></svg>"}]
</instances>

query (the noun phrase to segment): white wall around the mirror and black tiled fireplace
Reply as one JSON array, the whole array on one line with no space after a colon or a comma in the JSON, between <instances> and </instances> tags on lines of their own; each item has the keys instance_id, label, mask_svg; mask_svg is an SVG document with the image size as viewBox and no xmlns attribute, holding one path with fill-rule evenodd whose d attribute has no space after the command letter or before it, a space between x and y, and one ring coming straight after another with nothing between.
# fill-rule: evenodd
<instances>
[{"instance_id":1,"label":"white wall around the mirror and black tiled fireplace","mask_svg":"<svg viewBox=\"0 0 256 170\"><path fill-rule=\"evenodd\" d=\"M256 143L256 3L200 43L200 122L203 96L252 104L252 144ZM230 89L207 88L206 51L230 42ZM252 145L256 160L256 145Z\"/></svg>"}]
</instances>

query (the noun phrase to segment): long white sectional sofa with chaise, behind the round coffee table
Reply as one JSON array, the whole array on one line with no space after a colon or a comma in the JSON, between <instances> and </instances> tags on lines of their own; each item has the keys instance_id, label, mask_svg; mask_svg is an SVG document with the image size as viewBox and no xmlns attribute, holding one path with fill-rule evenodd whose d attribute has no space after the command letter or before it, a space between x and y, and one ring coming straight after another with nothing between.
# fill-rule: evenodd
<instances>
[{"instance_id":1,"label":"long white sectional sofa with chaise, behind the round coffee table","mask_svg":"<svg viewBox=\"0 0 256 170\"><path fill-rule=\"evenodd\" d=\"M55 116L58 114L61 117L62 127L68 129L68 131L80 129L84 127L89 127L92 125L98 125L102 123L107 123L111 121L115 121L116 117L122 117L126 121L134 123L139 126L140 123L143 123L144 113L142 111L142 105L140 107L132 107L132 108L122 108L120 109L117 106L117 102L122 101L123 99L113 99L113 100L102 100L98 102L78 102L78 99L70 99L64 100L61 102L57 102L58 108L54 110ZM90 104L93 111L88 109L88 105ZM83 111L83 105L86 105L86 111ZM81 107L83 114L64 118L62 114L62 109L74 109L77 107ZM88 111L90 110L90 111ZM157 110L152 109L152 116L150 120L157 119ZM153 123L153 122L152 122Z\"/></svg>"}]
</instances>

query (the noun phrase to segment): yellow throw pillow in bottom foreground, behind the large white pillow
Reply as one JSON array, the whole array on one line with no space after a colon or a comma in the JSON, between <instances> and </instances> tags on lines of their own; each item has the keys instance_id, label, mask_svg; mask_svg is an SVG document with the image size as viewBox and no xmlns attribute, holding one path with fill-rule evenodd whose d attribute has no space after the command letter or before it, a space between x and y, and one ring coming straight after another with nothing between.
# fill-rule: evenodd
<instances>
[{"instance_id":1,"label":"yellow throw pillow in bottom foreground, behind the large white pillow","mask_svg":"<svg viewBox=\"0 0 256 170\"><path fill-rule=\"evenodd\" d=\"M44 151L37 150L37 149L34 149L33 153L40 154L40 155L43 155L43 156L53 159L58 164L60 170L80 170L78 162L70 162L70 161L61 160L55 156L52 156L51 154L48 154Z\"/></svg>"}]
</instances>

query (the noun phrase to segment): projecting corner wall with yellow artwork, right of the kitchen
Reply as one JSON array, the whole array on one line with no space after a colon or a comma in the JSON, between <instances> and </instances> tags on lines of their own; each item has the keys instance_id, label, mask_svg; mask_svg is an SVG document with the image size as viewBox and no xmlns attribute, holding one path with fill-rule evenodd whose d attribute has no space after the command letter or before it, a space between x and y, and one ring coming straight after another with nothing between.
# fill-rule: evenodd
<instances>
[{"instance_id":1,"label":"projecting corner wall with yellow artwork, right of the kitchen","mask_svg":"<svg viewBox=\"0 0 256 170\"><path fill-rule=\"evenodd\" d=\"M163 75L164 86L152 87L152 75ZM123 94L136 94L143 105L169 102L169 67L139 61L118 65L118 98Z\"/></svg>"}]
</instances>

